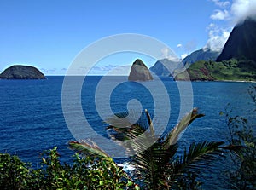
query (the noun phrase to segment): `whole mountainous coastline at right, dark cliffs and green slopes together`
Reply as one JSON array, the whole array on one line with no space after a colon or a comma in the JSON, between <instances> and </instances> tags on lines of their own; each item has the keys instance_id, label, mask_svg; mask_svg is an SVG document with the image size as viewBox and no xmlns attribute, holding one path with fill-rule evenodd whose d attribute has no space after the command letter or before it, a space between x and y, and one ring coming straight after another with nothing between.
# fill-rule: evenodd
<instances>
[{"instance_id":1,"label":"whole mountainous coastline at right, dark cliffs and green slopes together","mask_svg":"<svg viewBox=\"0 0 256 190\"><path fill-rule=\"evenodd\" d=\"M173 64L171 60L162 60ZM256 21L247 18L237 24L222 52L200 49L183 59L170 73L157 62L151 71L175 80L191 81L256 81Z\"/></svg>"}]
</instances>

